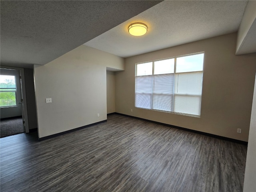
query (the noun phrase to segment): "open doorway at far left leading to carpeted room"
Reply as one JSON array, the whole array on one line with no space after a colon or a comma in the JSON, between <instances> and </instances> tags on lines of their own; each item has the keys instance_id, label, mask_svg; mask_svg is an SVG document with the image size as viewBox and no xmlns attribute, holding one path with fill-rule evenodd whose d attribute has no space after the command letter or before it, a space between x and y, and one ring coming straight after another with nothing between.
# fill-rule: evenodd
<instances>
[{"instance_id":1,"label":"open doorway at far left leading to carpeted room","mask_svg":"<svg viewBox=\"0 0 256 192\"><path fill-rule=\"evenodd\" d=\"M0 68L1 138L27 132L21 77L21 69Z\"/></svg>"}]
</instances>

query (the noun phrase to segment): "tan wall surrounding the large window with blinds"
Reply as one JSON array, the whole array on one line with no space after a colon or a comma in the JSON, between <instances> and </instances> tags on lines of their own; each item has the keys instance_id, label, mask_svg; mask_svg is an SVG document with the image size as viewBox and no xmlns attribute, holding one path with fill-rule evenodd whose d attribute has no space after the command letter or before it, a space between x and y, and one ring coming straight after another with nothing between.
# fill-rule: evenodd
<instances>
[{"instance_id":1,"label":"tan wall surrounding the large window with blinds","mask_svg":"<svg viewBox=\"0 0 256 192\"><path fill-rule=\"evenodd\" d=\"M116 72L116 112L247 142L256 54L235 51L232 33L126 58L125 71ZM136 63L197 52L205 52L200 118L134 107Z\"/></svg>"}]
</instances>

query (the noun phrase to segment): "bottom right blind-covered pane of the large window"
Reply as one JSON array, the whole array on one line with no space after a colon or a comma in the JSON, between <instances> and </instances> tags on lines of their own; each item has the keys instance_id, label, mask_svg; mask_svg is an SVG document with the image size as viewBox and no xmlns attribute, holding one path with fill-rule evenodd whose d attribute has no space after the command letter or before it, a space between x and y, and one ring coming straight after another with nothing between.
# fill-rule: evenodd
<instances>
[{"instance_id":1,"label":"bottom right blind-covered pane of the large window","mask_svg":"<svg viewBox=\"0 0 256 192\"><path fill-rule=\"evenodd\" d=\"M201 96L174 95L174 112L200 115Z\"/></svg>"}]
</instances>

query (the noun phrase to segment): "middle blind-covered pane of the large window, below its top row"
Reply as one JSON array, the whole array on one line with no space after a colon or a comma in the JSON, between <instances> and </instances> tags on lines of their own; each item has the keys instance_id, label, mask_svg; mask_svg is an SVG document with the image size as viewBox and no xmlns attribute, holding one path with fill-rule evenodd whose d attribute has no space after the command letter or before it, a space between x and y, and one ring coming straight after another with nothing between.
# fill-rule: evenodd
<instances>
[{"instance_id":1,"label":"middle blind-covered pane of the large window, below its top row","mask_svg":"<svg viewBox=\"0 0 256 192\"><path fill-rule=\"evenodd\" d=\"M152 108L162 111L172 111L174 74L154 76Z\"/></svg>"}]
</instances>

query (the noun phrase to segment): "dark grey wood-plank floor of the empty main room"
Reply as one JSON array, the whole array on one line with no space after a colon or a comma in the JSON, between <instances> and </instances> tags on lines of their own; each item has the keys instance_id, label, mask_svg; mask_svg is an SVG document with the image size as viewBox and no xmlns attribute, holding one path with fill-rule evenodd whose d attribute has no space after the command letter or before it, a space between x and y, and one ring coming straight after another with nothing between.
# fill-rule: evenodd
<instances>
[{"instance_id":1,"label":"dark grey wood-plank floor of the empty main room","mask_svg":"<svg viewBox=\"0 0 256 192\"><path fill-rule=\"evenodd\" d=\"M0 139L1 192L242 192L247 147L113 114L37 140Z\"/></svg>"}]
</instances>

